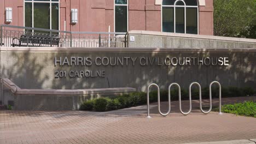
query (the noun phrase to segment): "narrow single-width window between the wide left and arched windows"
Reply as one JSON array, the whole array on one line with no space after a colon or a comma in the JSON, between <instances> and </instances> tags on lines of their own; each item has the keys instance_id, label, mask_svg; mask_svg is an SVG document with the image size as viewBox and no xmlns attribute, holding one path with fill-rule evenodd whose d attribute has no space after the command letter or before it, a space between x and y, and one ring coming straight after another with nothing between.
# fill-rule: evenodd
<instances>
[{"instance_id":1,"label":"narrow single-width window between the wide left and arched windows","mask_svg":"<svg viewBox=\"0 0 256 144\"><path fill-rule=\"evenodd\" d=\"M115 32L128 31L128 0L115 0Z\"/></svg>"}]
</instances>

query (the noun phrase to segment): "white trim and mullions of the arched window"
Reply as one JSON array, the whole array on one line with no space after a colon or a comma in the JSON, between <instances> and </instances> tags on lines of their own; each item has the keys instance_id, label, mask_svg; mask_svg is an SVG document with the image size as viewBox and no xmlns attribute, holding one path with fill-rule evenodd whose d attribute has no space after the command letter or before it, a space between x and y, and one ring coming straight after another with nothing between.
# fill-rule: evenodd
<instances>
[{"instance_id":1,"label":"white trim and mullions of the arched window","mask_svg":"<svg viewBox=\"0 0 256 144\"><path fill-rule=\"evenodd\" d=\"M176 5L176 3L178 1L182 1L184 3L184 5ZM162 2L162 1L161 1ZM197 35L199 35L199 2L197 1L197 6L192 6L192 5L186 5L185 2L183 0L177 0L174 2L174 5L162 5L161 4L161 32L162 31L162 7L172 7L173 8L173 22L174 22L174 33L176 33L176 7L183 7L184 8L184 29L185 29L185 32L184 33L187 33L187 14L186 14L186 8L197 8Z\"/></svg>"}]
</instances>

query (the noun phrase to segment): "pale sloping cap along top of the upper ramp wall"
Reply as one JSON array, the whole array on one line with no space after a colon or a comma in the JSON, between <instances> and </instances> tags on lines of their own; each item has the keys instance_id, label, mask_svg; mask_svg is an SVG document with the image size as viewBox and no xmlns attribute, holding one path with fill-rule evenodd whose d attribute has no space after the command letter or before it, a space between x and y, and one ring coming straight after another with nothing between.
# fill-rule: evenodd
<instances>
[{"instance_id":1,"label":"pale sloping cap along top of the upper ramp wall","mask_svg":"<svg viewBox=\"0 0 256 144\"><path fill-rule=\"evenodd\" d=\"M211 40L223 40L223 41L236 41L236 42L246 42L255 43L256 39L245 39L245 38L231 38L231 37L219 37L214 35L199 35L199 34L183 34L183 33L166 33L166 32L155 32L155 31L129 31L132 34L142 34L142 35L158 35L165 37L181 37L181 38L195 38L195 39L211 39Z\"/></svg>"}]
</instances>

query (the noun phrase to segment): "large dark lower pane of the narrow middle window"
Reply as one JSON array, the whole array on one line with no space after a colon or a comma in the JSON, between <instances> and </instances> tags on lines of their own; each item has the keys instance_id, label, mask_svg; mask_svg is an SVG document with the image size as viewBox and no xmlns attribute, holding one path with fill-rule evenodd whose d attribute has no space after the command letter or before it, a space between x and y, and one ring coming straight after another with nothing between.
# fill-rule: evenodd
<instances>
[{"instance_id":1,"label":"large dark lower pane of the narrow middle window","mask_svg":"<svg viewBox=\"0 0 256 144\"><path fill-rule=\"evenodd\" d=\"M115 32L127 32L126 6L115 6Z\"/></svg>"}]
</instances>

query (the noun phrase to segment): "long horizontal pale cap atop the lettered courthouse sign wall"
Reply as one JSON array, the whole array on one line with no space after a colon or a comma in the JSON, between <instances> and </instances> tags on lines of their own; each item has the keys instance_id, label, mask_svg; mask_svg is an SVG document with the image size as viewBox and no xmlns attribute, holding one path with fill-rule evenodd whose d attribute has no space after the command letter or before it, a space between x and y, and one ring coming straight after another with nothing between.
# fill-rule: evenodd
<instances>
[{"instance_id":1,"label":"long horizontal pale cap atop the lettered courthouse sign wall","mask_svg":"<svg viewBox=\"0 0 256 144\"><path fill-rule=\"evenodd\" d=\"M147 48L147 47L0 47L0 51L11 52L256 52L255 48L201 49L201 48Z\"/></svg>"}]
</instances>

